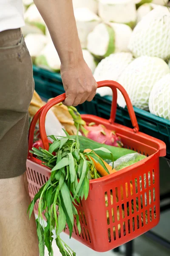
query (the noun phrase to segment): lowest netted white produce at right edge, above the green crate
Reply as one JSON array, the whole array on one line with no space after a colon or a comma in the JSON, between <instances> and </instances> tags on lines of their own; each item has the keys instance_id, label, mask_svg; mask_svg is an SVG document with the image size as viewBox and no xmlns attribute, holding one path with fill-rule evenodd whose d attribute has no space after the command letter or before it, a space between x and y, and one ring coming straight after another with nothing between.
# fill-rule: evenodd
<instances>
[{"instance_id":1,"label":"lowest netted white produce at right edge, above the green crate","mask_svg":"<svg viewBox=\"0 0 170 256\"><path fill-rule=\"evenodd\" d=\"M170 74L163 76L153 86L149 97L149 110L156 116L170 120Z\"/></svg>"}]
</instances>

